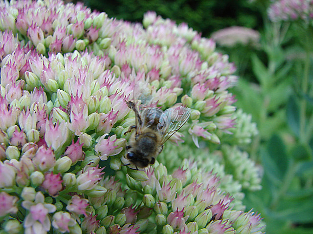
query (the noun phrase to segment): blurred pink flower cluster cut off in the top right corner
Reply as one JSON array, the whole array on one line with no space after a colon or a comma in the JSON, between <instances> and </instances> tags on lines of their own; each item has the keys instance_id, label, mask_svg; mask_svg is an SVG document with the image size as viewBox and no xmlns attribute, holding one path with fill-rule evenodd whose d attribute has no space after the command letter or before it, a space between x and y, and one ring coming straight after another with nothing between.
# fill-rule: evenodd
<instances>
[{"instance_id":1,"label":"blurred pink flower cluster cut off in the top right corner","mask_svg":"<svg viewBox=\"0 0 313 234\"><path fill-rule=\"evenodd\" d=\"M312 20L313 3L311 0L279 0L268 8L272 21Z\"/></svg>"}]
</instances>

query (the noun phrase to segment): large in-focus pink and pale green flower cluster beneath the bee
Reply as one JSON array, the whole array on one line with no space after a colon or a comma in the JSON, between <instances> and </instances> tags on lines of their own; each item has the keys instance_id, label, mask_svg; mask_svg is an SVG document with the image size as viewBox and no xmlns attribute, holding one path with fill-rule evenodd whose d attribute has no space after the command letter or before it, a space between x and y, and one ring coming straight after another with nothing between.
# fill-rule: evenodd
<instances>
[{"instance_id":1,"label":"large in-focus pink and pale green flower cluster beneath the bee","mask_svg":"<svg viewBox=\"0 0 313 234\"><path fill-rule=\"evenodd\" d=\"M220 180L192 160L171 173L166 161L145 171L123 167L124 133L135 124L128 100L191 109L171 138L180 144L191 135L182 158L188 147L220 144L243 115L227 90L235 68L212 39L153 12L143 25L80 3L0 2L5 232L260 233L260 215L242 211L241 186L218 162Z\"/></svg>"}]
</instances>

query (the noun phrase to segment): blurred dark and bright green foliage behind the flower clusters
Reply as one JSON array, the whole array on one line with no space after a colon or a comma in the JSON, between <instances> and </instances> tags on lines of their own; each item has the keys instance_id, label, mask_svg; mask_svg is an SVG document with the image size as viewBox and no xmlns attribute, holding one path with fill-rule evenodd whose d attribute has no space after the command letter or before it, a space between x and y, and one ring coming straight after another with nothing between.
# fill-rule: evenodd
<instances>
[{"instance_id":1,"label":"blurred dark and bright green foliage behind the flower clusters","mask_svg":"<svg viewBox=\"0 0 313 234\"><path fill-rule=\"evenodd\" d=\"M313 233L313 27L303 20L271 22L272 1L86 0L109 17L142 22L155 11L211 37L230 26L260 33L257 44L219 46L237 66L236 105L252 115L259 135L250 157L262 165L263 189L245 191L247 210L261 213L268 234Z\"/></svg>"}]
</instances>

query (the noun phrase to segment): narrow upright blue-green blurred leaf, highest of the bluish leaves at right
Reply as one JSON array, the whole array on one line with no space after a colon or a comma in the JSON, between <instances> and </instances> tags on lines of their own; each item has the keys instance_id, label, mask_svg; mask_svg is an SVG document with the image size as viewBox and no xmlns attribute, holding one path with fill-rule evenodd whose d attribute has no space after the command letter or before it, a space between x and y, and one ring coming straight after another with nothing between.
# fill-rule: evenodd
<instances>
[{"instance_id":1,"label":"narrow upright blue-green blurred leaf, highest of the bluish leaves at right","mask_svg":"<svg viewBox=\"0 0 313 234\"><path fill-rule=\"evenodd\" d=\"M287 103L287 122L292 132L299 137L300 135L300 113L296 102L296 97L291 96Z\"/></svg>"}]
</instances>

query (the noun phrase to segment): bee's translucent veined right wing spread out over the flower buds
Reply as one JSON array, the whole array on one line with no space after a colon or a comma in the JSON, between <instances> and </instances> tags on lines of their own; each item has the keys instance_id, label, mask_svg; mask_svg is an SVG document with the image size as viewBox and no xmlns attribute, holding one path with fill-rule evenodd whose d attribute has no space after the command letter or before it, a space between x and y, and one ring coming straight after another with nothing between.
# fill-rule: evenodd
<instances>
[{"instance_id":1,"label":"bee's translucent veined right wing spread out over the flower buds","mask_svg":"<svg viewBox=\"0 0 313 234\"><path fill-rule=\"evenodd\" d=\"M168 122L168 126L166 126L166 132L163 136L161 144L172 137L172 135L174 135L188 121L190 117L190 108L183 106L178 108L169 108L163 115L164 119L167 119L166 121ZM163 117L160 118L160 122ZM165 120L162 121L166 122Z\"/></svg>"}]
</instances>

